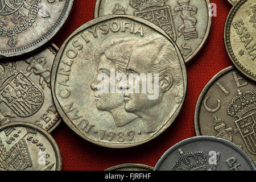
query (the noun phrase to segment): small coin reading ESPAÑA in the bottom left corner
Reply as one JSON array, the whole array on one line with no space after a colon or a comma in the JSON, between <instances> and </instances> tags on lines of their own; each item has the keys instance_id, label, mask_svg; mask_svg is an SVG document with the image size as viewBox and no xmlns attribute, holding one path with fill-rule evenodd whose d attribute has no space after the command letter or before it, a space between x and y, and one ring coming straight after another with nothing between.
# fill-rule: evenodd
<instances>
[{"instance_id":1,"label":"small coin reading ESPA\u00d1A in the bottom left corner","mask_svg":"<svg viewBox=\"0 0 256 182\"><path fill-rule=\"evenodd\" d=\"M0 127L0 171L61 171L61 155L55 140L30 123Z\"/></svg>"}]
</instances>

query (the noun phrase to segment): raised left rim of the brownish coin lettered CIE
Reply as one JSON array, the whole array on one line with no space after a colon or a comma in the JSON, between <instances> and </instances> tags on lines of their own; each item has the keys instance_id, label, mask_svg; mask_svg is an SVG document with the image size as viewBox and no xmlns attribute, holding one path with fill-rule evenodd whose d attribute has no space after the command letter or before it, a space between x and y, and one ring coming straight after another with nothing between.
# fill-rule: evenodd
<instances>
[{"instance_id":1,"label":"raised left rim of the brownish coin lettered CIE","mask_svg":"<svg viewBox=\"0 0 256 182\"><path fill-rule=\"evenodd\" d=\"M205 94L208 92L210 86L214 84L214 82L220 78L221 76L225 75L227 72L231 71L232 69L235 69L233 66L230 66L228 68L222 69L220 72L218 72L216 75L214 75L210 81L204 86L202 92L200 93L199 98L196 102L196 108L195 108L195 114L194 114L194 125L196 130L196 135L200 136L202 135L200 132L200 123L199 123L199 114L200 114L200 107L202 105L202 101L204 99Z\"/></svg>"}]
</instances>

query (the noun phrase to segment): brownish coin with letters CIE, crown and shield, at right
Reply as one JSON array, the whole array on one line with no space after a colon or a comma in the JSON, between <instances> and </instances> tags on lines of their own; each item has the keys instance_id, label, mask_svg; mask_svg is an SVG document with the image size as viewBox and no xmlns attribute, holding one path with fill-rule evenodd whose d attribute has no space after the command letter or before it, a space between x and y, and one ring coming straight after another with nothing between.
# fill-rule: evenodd
<instances>
[{"instance_id":1,"label":"brownish coin with letters CIE, crown and shield, at right","mask_svg":"<svg viewBox=\"0 0 256 182\"><path fill-rule=\"evenodd\" d=\"M219 72L200 94L195 110L197 135L224 138L256 163L256 84L233 67Z\"/></svg>"}]
</instances>

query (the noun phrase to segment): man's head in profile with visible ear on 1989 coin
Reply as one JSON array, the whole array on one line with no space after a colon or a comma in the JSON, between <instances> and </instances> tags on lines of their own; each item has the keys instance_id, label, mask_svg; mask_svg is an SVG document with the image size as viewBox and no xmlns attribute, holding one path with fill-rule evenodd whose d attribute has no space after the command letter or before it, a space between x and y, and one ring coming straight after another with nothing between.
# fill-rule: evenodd
<instances>
[{"instance_id":1,"label":"man's head in profile with visible ear on 1989 coin","mask_svg":"<svg viewBox=\"0 0 256 182\"><path fill-rule=\"evenodd\" d=\"M159 94L154 99L149 99L148 93L129 92L130 88L134 88L131 85L133 82L122 83L126 87L125 110L142 118L147 133L157 131L171 118L184 97L183 72L175 47L164 37L140 39L132 48L126 70L128 76L137 75L135 79L141 79L139 75L142 73L159 76L157 85L154 79L151 83L147 82L152 87L157 86L155 89Z\"/></svg>"}]
</instances>

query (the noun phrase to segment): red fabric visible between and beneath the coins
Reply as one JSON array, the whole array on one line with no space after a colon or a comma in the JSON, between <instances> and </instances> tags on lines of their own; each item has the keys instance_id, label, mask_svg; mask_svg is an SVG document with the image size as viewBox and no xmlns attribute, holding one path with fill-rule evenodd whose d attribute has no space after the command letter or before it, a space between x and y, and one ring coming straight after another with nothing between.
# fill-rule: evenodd
<instances>
[{"instance_id":1,"label":"red fabric visible between and beneath the coins","mask_svg":"<svg viewBox=\"0 0 256 182\"><path fill-rule=\"evenodd\" d=\"M110 149L96 146L75 134L64 122L52 133L63 158L63 170L98 171L123 164L139 163L154 167L159 158L175 143L195 137L194 111L205 84L222 69L232 65L226 53L223 31L232 6L227 0L211 0L217 5L209 38L201 51L187 64L188 89L183 109L176 121L159 137L141 146ZM61 31L53 38L60 47L68 36L94 17L96 0L74 0L71 14Z\"/></svg>"}]
</instances>

